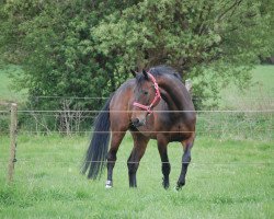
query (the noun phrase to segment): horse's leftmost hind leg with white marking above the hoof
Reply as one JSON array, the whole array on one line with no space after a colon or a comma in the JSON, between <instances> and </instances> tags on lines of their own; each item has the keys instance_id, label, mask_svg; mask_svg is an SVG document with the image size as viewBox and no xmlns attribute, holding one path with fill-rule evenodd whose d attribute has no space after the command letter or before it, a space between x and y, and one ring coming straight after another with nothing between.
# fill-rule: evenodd
<instances>
[{"instance_id":1,"label":"horse's leftmost hind leg with white marking above the hoof","mask_svg":"<svg viewBox=\"0 0 274 219\"><path fill-rule=\"evenodd\" d=\"M117 131L117 132L114 131L112 134L111 148L107 153L107 180L105 183L106 188L111 188L113 186L112 175L113 175L113 169L116 162L116 153L125 134L126 131Z\"/></svg>"}]
</instances>

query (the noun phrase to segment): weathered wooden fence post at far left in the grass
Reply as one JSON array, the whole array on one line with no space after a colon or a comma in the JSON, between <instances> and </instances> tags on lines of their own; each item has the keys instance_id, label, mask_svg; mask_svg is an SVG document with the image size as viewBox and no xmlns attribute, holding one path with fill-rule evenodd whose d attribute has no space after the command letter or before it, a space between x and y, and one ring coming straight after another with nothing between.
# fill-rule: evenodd
<instances>
[{"instance_id":1,"label":"weathered wooden fence post at far left in the grass","mask_svg":"<svg viewBox=\"0 0 274 219\"><path fill-rule=\"evenodd\" d=\"M13 172L14 172L14 162L15 159L15 150L16 150L16 130L18 130L18 104L11 104L11 127L10 127L10 159L8 166L8 183L12 183L13 181Z\"/></svg>"}]
</instances>

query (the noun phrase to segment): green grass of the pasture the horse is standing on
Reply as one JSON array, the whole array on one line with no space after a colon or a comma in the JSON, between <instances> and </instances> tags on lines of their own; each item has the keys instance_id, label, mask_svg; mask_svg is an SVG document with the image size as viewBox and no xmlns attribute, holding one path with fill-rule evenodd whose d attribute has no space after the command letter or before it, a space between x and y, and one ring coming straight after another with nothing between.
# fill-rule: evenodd
<instances>
[{"instance_id":1,"label":"green grass of the pasture the horse is standing on","mask_svg":"<svg viewBox=\"0 0 274 219\"><path fill-rule=\"evenodd\" d=\"M171 188L161 187L156 141L138 170L138 188L128 187L129 136L121 145L114 187L79 174L88 137L19 136L14 184L5 184L9 139L0 139L0 218L273 218L273 141L197 137L186 186L173 187L182 148L169 146Z\"/></svg>"}]
</instances>

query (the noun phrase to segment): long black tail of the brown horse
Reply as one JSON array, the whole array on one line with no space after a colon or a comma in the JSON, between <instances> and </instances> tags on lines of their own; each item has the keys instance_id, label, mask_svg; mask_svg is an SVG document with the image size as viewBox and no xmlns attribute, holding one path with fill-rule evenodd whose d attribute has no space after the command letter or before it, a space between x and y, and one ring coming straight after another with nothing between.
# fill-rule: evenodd
<instances>
[{"instance_id":1,"label":"long black tail of the brown horse","mask_svg":"<svg viewBox=\"0 0 274 219\"><path fill-rule=\"evenodd\" d=\"M94 132L88 148L85 159L81 172L85 174L89 170L88 178L95 180L100 176L105 166L106 153L110 142L110 103L112 97L107 100L101 113L94 122Z\"/></svg>"}]
</instances>

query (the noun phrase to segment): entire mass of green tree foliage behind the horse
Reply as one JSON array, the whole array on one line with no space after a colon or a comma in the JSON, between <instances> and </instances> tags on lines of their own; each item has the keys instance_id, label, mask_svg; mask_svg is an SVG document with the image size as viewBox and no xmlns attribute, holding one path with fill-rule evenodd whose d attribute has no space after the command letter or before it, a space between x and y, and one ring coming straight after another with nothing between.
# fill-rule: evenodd
<instances>
[{"instance_id":1,"label":"entire mass of green tree foliage behind the horse","mask_svg":"<svg viewBox=\"0 0 274 219\"><path fill-rule=\"evenodd\" d=\"M203 106L231 81L244 88L252 65L273 53L272 15L269 0L2 1L0 50L23 66L18 84L30 96L107 96L130 68L170 65L194 79Z\"/></svg>"}]
</instances>

